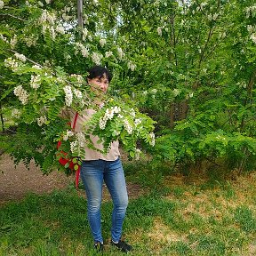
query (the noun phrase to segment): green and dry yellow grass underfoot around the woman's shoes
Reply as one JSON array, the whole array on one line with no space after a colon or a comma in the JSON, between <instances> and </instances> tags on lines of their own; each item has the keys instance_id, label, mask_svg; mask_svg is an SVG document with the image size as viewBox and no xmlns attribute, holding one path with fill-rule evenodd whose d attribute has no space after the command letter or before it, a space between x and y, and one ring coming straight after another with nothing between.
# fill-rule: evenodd
<instances>
[{"instance_id":1,"label":"green and dry yellow grass underfoot around the woman's shoes","mask_svg":"<svg viewBox=\"0 0 256 256\"><path fill-rule=\"evenodd\" d=\"M127 209L130 255L256 255L255 172L235 181L207 181L140 165L125 169L127 180L148 191ZM120 255L108 245L111 209L111 202L102 204L103 255ZM93 253L86 202L73 188L1 206L0 255Z\"/></svg>"}]
</instances>

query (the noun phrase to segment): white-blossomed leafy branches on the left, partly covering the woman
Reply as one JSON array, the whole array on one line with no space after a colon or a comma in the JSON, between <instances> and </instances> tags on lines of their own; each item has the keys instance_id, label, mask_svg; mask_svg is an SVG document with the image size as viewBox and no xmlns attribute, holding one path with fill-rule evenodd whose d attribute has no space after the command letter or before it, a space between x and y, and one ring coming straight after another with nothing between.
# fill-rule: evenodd
<instances>
[{"instance_id":1,"label":"white-blossomed leafy branches on the left, partly covering the woman","mask_svg":"<svg viewBox=\"0 0 256 256\"><path fill-rule=\"evenodd\" d=\"M104 143L102 153L108 151L113 140L119 140L131 157L138 152L137 140L154 144L155 122L151 118L109 94L101 99L105 105L99 109L95 103L99 95L87 84L86 71L93 65L113 69L130 61L121 47L93 26L100 22L92 15L97 6L97 1L86 3L84 16L88 16L82 28L77 27L76 5L72 2L19 1L1 5L1 101L7 100L5 106L12 108L17 125L8 149L15 164L23 161L28 165L34 159L44 173L61 168L61 151L84 158L84 146L93 147L91 133ZM10 96L12 93L15 98ZM60 118L63 108L78 113L93 108L98 112L87 125L90 129L84 126L82 132L74 132L69 121ZM106 124L102 126L102 122ZM58 140L62 140L59 149Z\"/></svg>"}]
</instances>

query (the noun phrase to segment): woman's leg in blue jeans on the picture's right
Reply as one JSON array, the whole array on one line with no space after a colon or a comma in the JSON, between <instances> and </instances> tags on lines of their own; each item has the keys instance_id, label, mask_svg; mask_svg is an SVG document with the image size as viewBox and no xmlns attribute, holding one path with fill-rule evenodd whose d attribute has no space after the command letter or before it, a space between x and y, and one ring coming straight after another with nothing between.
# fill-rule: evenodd
<instances>
[{"instance_id":1,"label":"woman's leg in blue jeans on the picture's right","mask_svg":"<svg viewBox=\"0 0 256 256\"><path fill-rule=\"evenodd\" d=\"M124 216L128 205L124 170L120 159L106 162L104 180L113 200L112 212L112 241L118 242L122 236Z\"/></svg>"}]
</instances>

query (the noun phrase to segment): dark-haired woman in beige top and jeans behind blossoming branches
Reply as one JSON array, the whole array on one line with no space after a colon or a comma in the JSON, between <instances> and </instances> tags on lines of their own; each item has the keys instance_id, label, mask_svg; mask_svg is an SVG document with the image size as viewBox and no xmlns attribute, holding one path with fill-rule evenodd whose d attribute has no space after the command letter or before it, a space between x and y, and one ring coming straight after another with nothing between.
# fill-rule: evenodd
<instances>
[{"instance_id":1,"label":"dark-haired woman in beige top and jeans behind blossoming branches","mask_svg":"<svg viewBox=\"0 0 256 256\"><path fill-rule=\"evenodd\" d=\"M97 91L96 95L99 95L97 104L99 105L103 102L100 102L101 97L100 94L97 93L106 93L108 91L111 78L107 68L95 66L89 70L89 76L87 76L88 84L92 86L93 91ZM95 110L93 109L84 109L76 119L75 131L80 132L84 122L94 113ZM75 113L71 112L70 114L72 122L74 121ZM99 140L97 136L91 135L91 140L95 148L103 148L101 144L99 145L97 143ZM99 252L103 251L100 206L102 200L102 185L103 181L105 181L114 204L112 212L111 244L122 252L131 251L132 246L121 240L128 196L124 170L120 160L118 141L114 141L111 144L107 155L103 155L100 151L93 150L92 148L85 148L85 159L83 159L80 175L87 196L88 220L92 230L95 249Z\"/></svg>"}]
</instances>

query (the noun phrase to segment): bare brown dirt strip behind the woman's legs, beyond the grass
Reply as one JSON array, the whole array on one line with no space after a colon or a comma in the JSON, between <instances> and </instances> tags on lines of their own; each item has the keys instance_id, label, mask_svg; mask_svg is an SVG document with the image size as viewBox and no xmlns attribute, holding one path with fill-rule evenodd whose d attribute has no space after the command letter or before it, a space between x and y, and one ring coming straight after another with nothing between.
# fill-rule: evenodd
<instances>
[{"instance_id":1,"label":"bare brown dirt strip behind the woman's legs, beyond the grass","mask_svg":"<svg viewBox=\"0 0 256 256\"><path fill-rule=\"evenodd\" d=\"M12 158L6 154L0 159L0 204L11 200L20 200L29 192L35 194L48 194L55 189L65 189L73 186L74 177L67 177L62 172L52 172L43 175L35 163L29 164L29 170L24 164L18 164L15 168ZM105 191L106 190L106 191ZM130 199L143 194L143 189L137 184L127 183ZM84 196L84 189L78 191L79 196ZM108 189L103 186L103 200L110 200Z\"/></svg>"}]
</instances>

